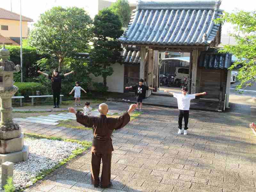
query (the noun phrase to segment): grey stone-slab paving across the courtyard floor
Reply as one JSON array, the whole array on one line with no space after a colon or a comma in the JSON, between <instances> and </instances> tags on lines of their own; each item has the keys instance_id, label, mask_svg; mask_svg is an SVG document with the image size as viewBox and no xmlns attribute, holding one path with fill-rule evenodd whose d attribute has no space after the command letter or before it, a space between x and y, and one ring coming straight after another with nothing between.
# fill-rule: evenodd
<instances>
[{"instance_id":1,"label":"grey stone-slab paving across the courtyard floor","mask_svg":"<svg viewBox=\"0 0 256 192\"><path fill-rule=\"evenodd\" d=\"M125 103L109 102L124 110ZM177 134L177 109L145 112L113 134L111 189L90 184L90 151L26 192L256 192L256 136L248 127L256 109L190 111L188 135ZM90 140L91 130L19 122L23 131Z\"/></svg>"}]
</instances>

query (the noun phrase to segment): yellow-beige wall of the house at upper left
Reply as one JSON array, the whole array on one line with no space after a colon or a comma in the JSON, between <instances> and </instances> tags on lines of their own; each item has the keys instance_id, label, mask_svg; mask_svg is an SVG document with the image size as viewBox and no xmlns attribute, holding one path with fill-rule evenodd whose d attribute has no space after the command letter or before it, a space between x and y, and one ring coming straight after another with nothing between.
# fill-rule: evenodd
<instances>
[{"instance_id":1,"label":"yellow-beige wall of the house at upper left","mask_svg":"<svg viewBox=\"0 0 256 192\"><path fill-rule=\"evenodd\" d=\"M8 25L8 30L1 30L1 25ZM0 19L0 34L4 37L20 37L20 21ZM27 21L22 21L22 37L28 37Z\"/></svg>"}]
</instances>

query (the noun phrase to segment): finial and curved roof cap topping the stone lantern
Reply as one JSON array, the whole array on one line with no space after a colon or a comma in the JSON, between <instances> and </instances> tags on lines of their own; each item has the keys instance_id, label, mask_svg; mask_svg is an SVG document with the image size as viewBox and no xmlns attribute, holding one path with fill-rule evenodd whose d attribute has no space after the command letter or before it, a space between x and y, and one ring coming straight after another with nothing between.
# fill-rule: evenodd
<instances>
[{"instance_id":1,"label":"finial and curved roof cap topping the stone lantern","mask_svg":"<svg viewBox=\"0 0 256 192\"><path fill-rule=\"evenodd\" d=\"M3 44L2 49L0 49L0 71L19 72L20 65L15 66L14 62L8 61L9 55L9 50Z\"/></svg>"}]
</instances>

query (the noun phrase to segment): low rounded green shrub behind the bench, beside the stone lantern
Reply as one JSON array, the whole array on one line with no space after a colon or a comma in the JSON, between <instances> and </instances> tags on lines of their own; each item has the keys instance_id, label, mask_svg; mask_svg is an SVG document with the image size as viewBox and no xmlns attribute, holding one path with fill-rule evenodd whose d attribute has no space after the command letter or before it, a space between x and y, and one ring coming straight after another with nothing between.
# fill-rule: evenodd
<instances>
[{"instance_id":1,"label":"low rounded green shrub behind the bench, beside the stone lantern","mask_svg":"<svg viewBox=\"0 0 256 192\"><path fill-rule=\"evenodd\" d=\"M36 91L40 91L41 95L48 94L47 89L44 85L36 82L15 82L15 86L19 88L16 96L24 96L26 99L29 96L36 95Z\"/></svg>"}]
</instances>

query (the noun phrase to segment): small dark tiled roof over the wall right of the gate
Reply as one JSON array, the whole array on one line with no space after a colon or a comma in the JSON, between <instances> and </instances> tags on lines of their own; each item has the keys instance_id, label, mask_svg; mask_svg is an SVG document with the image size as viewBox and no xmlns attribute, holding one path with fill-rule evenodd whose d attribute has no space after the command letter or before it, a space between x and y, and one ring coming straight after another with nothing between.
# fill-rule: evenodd
<instances>
[{"instance_id":1,"label":"small dark tiled roof over the wall right of the gate","mask_svg":"<svg viewBox=\"0 0 256 192\"><path fill-rule=\"evenodd\" d=\"M231 66L232 54L201 52L199 66L212 69L227 69Z\"/></svg>"}]
</instances>

